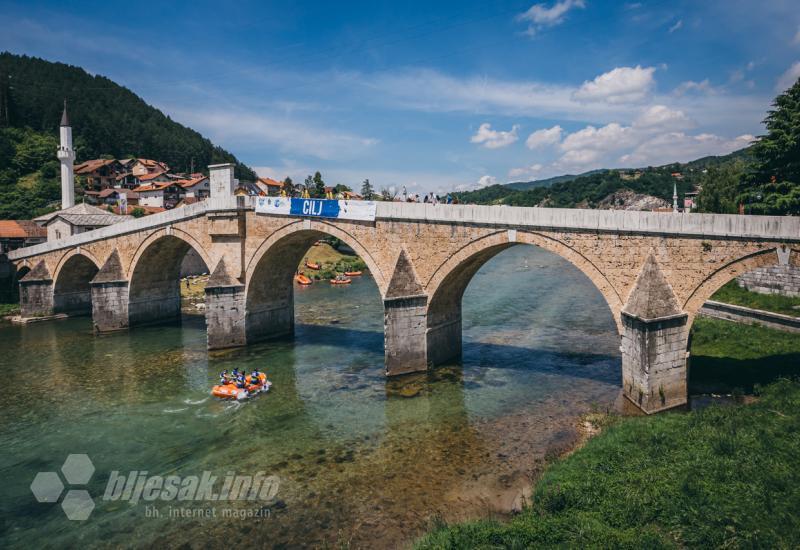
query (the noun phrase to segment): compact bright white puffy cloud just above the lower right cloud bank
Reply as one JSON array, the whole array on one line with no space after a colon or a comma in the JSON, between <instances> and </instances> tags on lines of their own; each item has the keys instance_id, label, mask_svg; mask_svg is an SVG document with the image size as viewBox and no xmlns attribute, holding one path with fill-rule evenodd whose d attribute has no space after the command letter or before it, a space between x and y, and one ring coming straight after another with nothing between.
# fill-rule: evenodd
<instances>
[{"instance_id":1,"label":"compact bright white puffy cloud just above the lower right cloud bank","mask_svg":"<svg viewBox=\"0 0 800 550\"><path fill-rule=\"evenodd\" d=\"M655 84L655 67L617 67L586 81L573 97L578 101L631 103L642 101Z\"/></svg>"}]
</instances>

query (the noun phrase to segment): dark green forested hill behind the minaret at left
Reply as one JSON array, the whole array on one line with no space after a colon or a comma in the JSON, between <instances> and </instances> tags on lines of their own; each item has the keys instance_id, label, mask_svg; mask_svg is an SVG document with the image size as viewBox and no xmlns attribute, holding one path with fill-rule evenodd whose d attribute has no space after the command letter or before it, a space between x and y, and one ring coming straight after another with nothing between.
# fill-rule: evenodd
<instances>
[{"instance_id":1,"label":"dark green forested hill behind the minaret at left","mask_svg":"<svg viewBox=\"0 0 800 550\"><path fill-rule=\"evenodd\" d=\"M141 157L164 161L180 172L189 171L192 160L197 170L233 162L238 177L255 179L231 153L108 78L64 63L0 53L0 129L30 128L58 136L65 98L78 162L104 155ZM0 171L14 168L2 165L2 148L0 143Z\"/></svg>"}]
</instances>

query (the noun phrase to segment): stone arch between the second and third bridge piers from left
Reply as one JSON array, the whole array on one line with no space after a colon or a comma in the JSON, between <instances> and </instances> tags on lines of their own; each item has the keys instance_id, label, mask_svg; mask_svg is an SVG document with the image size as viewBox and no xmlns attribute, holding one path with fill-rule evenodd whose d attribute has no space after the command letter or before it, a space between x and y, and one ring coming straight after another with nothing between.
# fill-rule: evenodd
<instances>
[{"instance_id":1,"label":"stone arch between the second and third bridge piers from left","mask_svg":"<svg viewBox=\"0 0 800 550\"><path fill-rule=\"evenodd\" d=\"M181 265L190 249L208 268L207 254L184 231L174 228L158 231L142 241L128 269L130 326L180 319Z\"/></svg>"}]
</instances>

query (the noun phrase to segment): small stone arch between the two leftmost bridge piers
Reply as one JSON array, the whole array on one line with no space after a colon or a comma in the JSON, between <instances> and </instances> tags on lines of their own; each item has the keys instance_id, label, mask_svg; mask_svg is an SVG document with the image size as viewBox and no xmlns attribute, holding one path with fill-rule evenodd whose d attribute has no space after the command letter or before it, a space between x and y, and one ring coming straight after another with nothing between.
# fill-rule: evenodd
<instances>
[{"instance_id":1,"label":"small stone arch between the two leftmost bridge piers","mask_svg":"<svg viewBox=\"0 0 800 550\"><path fill-rule=\"evenodd\" d=\"M91 282L98 271L100 263L90 252L72 249L64 254L53 275L53 312L91 314Z\"/></svg>"}]
</instances>

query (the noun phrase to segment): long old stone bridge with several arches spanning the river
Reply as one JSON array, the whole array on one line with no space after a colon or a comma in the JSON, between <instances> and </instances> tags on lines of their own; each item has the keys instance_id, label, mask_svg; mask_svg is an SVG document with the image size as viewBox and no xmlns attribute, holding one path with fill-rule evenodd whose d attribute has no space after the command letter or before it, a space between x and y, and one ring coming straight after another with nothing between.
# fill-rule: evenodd
<instances>
[{"instance_id":1,"label":"long old stone bridge with several arches spanning the river","mask_svg":"<svg viewBox=\"0 0 800 550\"><path fill-rule=\"evenodd\" d=\"M703 303L749 270L800 265L800 218L379 202L373 222L257 214L249 197L204 202L9 254L22 315L91 313L99 332L180 316L194 249L211 273L210 349L292 332L293 274L333 236L366 262L384 303L388 375L461 352L461 300L500 251L566 258L608 303L624 394L646 412L687 399L689 329ZM23 276L24 275L24 276Z\"/></svg>"}]
</instances>

